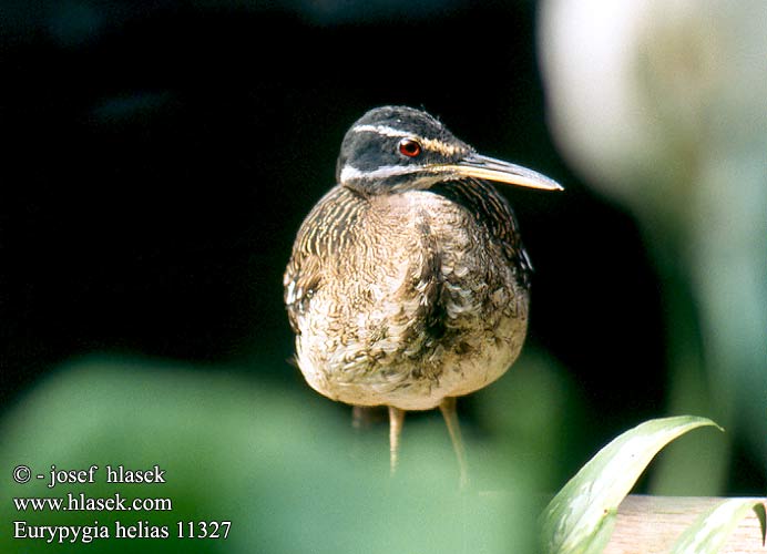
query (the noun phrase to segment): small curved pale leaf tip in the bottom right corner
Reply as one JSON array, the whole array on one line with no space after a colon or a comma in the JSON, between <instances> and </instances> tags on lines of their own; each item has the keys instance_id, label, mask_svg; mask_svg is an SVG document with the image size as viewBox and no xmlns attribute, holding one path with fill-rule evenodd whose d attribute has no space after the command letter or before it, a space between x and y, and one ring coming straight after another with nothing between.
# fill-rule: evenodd
<instances>
[{"instance_id":1,"label":"small curved pale leaf tip in the bottom right corner","mask_svg":"<svg viewBox=\"0 0 767 554\"><path fill-rule=\"evenodd\" d=\"M764 502L754 499L732 499L702 514L679 536L669 554L716 554L738 522L751 510L759 519L764 544L767 531Z\"/></svg>"}]
</instances>

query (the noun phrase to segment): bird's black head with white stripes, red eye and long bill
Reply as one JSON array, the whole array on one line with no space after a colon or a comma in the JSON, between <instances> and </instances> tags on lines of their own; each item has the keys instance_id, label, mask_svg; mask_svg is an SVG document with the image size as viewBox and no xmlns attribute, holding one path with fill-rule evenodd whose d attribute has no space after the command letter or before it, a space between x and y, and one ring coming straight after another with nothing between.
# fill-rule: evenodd
<instances>
[{"instance_id":1,"label":"bird's black head with white stripes, red eye and long bill","mask_svg":"<svg viewBox=\"0 0 767 554\"><path fill-rule=\"evenodd\" d=\"M365 195L464 178L562 188L538 172L478 154L428 113L405 106L376 107L351 125L336 168L338 183Z\"/></svg>"}]
</instances>

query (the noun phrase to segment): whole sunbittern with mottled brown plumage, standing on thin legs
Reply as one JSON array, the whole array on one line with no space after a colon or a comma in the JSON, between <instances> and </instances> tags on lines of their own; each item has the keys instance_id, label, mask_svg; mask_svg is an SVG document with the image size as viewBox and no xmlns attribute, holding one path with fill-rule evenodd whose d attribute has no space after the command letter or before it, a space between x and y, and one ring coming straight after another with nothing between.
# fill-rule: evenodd
<instances>
[{"instance_id":1,"label":"whole sunbittern with mottled brown plumage, standing on thin legs","mask_svg":"<svg viewBox=\"0 0 767 554\"><path fill-rule=\"evenodd\" d=\"M467 483L456 399L524 342L532 266L492 183L562 189L422 110L376 107L346 132L336 185L296 235L283 279L295 361L320 394L388 408L392 472L406 411L439 408Z\"/></svg>"}]
</instances>

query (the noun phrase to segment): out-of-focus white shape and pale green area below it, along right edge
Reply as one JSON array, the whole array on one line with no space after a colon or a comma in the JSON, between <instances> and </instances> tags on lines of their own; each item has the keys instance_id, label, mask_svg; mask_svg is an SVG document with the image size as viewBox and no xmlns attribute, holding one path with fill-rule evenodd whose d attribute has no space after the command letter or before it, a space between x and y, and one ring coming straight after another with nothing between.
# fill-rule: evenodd
<instances>
[{"instance_id":1,"label":"out-of-focus white shape and pale green area below it, along right edge","mask_svg":"<svg viewBox=\"0 0 767 554\"><path fill-rule=\"evenodd\" d=\"M545 0L539 29L559 146L689 289L668 327L698 316L706 401L767 461L767 4Z\"/></svg>"}]
</instances>

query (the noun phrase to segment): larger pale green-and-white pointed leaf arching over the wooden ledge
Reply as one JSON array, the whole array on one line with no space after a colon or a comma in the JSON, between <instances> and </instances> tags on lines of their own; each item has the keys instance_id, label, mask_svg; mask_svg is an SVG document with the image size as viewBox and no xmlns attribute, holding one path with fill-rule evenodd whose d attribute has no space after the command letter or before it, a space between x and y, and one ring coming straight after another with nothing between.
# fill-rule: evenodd
<instances>
[{"instance_id":1,"label":"larger pale green-and-white pointed leaf arching over the wooden ledge","mask_svg":"<svg viewBox=\"0 0 767 554\"><path fill-rule=\"evenodd\" d=\"M597 553L615 525L617 506L655 454L706 418L655 419L626 431L604 447L554 496L543 513L546 552Z\"/></svg>"}]
</instances>

